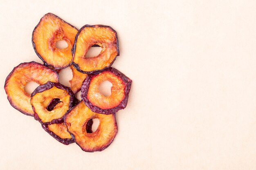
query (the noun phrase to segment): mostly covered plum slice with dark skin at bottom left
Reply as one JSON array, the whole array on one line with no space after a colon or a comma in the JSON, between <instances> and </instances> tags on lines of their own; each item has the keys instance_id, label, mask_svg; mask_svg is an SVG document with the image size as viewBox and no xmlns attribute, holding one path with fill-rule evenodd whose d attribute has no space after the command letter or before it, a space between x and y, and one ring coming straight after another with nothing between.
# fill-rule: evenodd
<instances>
[{"instance_id":1,"label":"mostly covered plum slice with dark skin at bottom left","mask_svg":"<svg viewBox=\"0 0 256 170\"><path fill-rule=\"evenodd\" d=\"M43 123L43 129L48 132L54 139L62 144L68 145L74 143L74 137L67 132L67 126L64 124L63 119L59 119L54 124ZM90 129L91 127L88 127Z\"/></svg>"}]
</instances>

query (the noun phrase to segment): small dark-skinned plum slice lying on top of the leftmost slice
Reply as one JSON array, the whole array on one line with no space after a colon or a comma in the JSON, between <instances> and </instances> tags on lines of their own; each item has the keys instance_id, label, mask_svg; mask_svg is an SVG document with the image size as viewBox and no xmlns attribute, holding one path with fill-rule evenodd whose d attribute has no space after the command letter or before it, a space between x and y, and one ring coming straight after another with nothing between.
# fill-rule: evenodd
<instances>
[{"instance_id":1,"label":"small dark-skinned plum slice lying on top of the leftmost slice","mask_svg":"<svg viewBox=\"0 0 256 170\"><path fill-rule=\"evenodd\" d=\"M58 123L63 115L76 104L76 97L69 87L47 82L31 93L30 103L34 118L40 123Z\"/></svg>"}]
</instances>

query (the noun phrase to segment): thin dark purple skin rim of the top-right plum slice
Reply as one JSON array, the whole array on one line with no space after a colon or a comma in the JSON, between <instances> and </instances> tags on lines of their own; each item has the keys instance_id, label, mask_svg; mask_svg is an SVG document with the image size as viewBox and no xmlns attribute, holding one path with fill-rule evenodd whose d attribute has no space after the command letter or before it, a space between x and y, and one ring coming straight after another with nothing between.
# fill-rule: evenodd
<instances>
[{"instance_id":1,"label":"thin dark purple skin rim of the top-right plum slice","mask_svg":"<svg viewBox=\"0 0 256 170\"><path fill-rule=\"evenodd\" d=\"M72 61L74 60L74 54L76 52L76 41L77 41L77 38L78 38L78 35L79 33L85 28L85 27L95 27L95 26L99 26L99 27L107 27L107 28L110 28L115 34L116 34L116 39L117 39L117 56L119 56L120 52L119 52L119 42L118 42L118 38L117 38L117 31L115 31L114 29L112 29L111 26L106 26L106 25L84 25L81 29L79 29L78 33L76 33L76 38L75 38L75 42L74 42L74 45L71 49L71 53L72 53ZM97 44L94 44L92 46L99 46ZM92 74L92 73L100 73L101 71L105 70L106 68L109 68L110 66L112 66L112 64L115 62L115 60L117 59L117 56L114 58L114 60L110 63L110 65L108 67L105 67L101 70L94 70L94 71L83 71L79 68L78 64L72 62L74 68L76 68L77 71L81 72L81 73L86 73L86 74Z\"/></svg>"}]
</instances>

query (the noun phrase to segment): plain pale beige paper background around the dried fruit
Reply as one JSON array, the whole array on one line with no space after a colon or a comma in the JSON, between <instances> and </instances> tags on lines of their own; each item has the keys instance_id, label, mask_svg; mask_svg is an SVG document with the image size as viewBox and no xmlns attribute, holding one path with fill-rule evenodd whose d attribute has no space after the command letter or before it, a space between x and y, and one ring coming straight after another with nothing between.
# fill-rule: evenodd
<instances>
[{"instance_id":1,"label":"plain pale beige paper background around the dried fruit","mask_svg":"<svg viewBox=\"0 0 256 170\"><path fill-rule=\"evenodd\" d=\"M255 0L1 0L0 169L255 170L255 9ZM48 12L118 33L113 67L133 82L102 152L58 143L7 100L12 68L40 62L31 33Z\"/></svg>"}]
</instances>

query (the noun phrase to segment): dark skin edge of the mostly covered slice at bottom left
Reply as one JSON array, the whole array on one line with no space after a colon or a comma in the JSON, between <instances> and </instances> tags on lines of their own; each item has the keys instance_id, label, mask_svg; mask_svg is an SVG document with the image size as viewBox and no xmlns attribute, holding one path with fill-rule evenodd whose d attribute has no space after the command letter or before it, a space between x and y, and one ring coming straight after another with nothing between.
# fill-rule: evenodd
<instances>
[{"instance_id":1,"label":"dark skin edge of the mostly covered slice at bottom left","mask_svg":"<svg viewBox=\"0 0 256 170\"><path fill-rule=\"evenodd\" d=\"M55 119L56 120L56 119ZM59 119L58 121L56 120L54 124L61 124L64 122L64 117L62 117L61 119ZM51 130L49 130L48 128L48 125L50 125L50 123L43 123L42 124L42 127L43 129L49 133L52 137L54 137L54 139L56 139L57 141L61 142L62 144L64 145L69 145L69 144L72 144L74 143L74 137L71 135L71 138L65 138L65 139L62 139L60 137L58 137L58 135L56 135L54 132L52 132Z\"/></svg>"}]
</instances>

